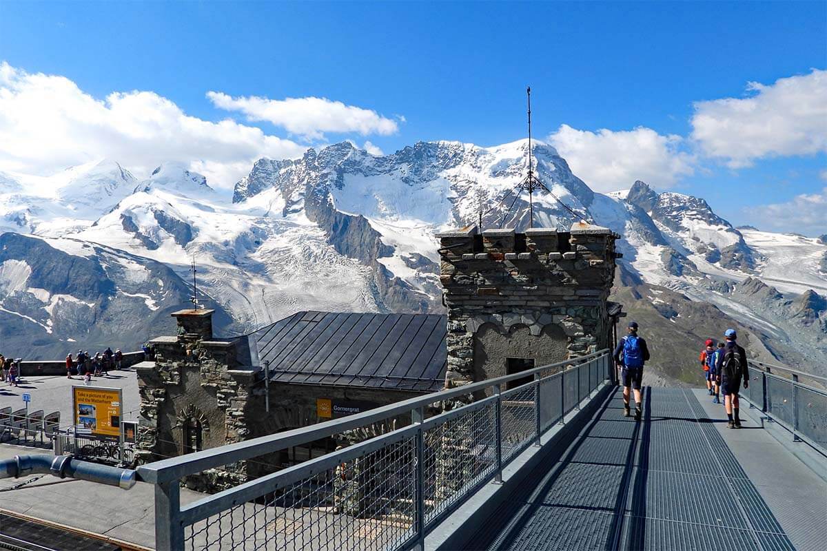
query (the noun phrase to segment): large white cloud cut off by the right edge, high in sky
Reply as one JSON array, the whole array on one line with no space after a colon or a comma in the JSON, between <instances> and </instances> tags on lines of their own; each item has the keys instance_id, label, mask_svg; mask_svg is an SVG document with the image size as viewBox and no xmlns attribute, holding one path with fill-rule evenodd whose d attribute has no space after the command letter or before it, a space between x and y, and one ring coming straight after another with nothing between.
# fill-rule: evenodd
<instances>
[{"instance_id":1,"label":"large white cloud cut off by the right edge, high in sky","mask_svg":"<svg viewBox=\"0 0 827 551\"><path fill-rule=\"evenodd\" d=\"M755 159L827 151L827 71L748 83L751 97L696 102L692 138L729 167Z\"/></svg>"}]
</instances>

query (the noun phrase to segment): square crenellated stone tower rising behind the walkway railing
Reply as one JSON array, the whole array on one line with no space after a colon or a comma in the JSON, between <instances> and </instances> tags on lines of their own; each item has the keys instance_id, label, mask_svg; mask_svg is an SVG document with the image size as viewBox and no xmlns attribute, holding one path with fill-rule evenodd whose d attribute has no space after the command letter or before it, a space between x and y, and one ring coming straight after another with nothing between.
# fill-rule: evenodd
<instances>
[{"instance_id":1,"label":"square crenellated stone tower rising behind the walkway railing","mask_svg":"<svg viewBox=\"0 0 827 551\"><path fill-rule=\"evenodd\" d=\"M437 234L448 316L446 384L515 373L609 346L614 241L570 231L475 228Z\"/></svg>"}]
</instances>

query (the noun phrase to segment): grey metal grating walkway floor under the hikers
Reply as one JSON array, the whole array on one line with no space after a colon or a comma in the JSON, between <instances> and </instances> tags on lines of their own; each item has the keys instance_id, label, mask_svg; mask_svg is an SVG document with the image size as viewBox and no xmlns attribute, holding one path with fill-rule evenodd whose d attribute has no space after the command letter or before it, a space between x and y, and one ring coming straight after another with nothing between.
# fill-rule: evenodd
<instances>
[{"instance_id":1,"label":"grey metal grating walkway floor under the hikers","mask_svg":"<svg viewBox=\"0 0 827 551\"><path fill-rule=\"evenodd\" d=\"M463 549L795 549L715 428L722 421L689 390L644 392L644 422L622 416L615 391Z\"/></svg>"}]
</instances>

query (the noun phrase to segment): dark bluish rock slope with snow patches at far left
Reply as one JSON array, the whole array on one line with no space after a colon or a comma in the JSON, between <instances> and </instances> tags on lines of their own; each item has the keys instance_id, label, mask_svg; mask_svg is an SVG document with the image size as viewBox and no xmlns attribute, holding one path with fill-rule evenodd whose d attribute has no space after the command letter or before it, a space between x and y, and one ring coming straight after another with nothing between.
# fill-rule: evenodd
<instances>
[{"instance_id":1,"label":"dark bluish rock slope with snow patches at far left","mask_svg":"<svg viewBox=\"0 0 827 551\"><path fill-rule=\"evenodd\" d=\"M174 331L170 312L188 306L191 293L178 275L117 249L83 249L85 256L77 256L47 240L0 235L0 270L18 273L13 289L0 283L3 354L61 359L77 349L136 350L159 332ZM226 311L206 302L218 309L222 328L232 324Z\"/></svg>"}]
</instances>

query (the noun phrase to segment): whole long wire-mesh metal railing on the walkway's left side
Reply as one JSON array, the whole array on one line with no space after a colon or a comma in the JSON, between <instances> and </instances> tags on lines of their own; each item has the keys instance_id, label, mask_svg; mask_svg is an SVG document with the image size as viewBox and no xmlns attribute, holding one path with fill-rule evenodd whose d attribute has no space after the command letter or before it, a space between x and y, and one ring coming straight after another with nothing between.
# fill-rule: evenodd
<instances>
[{"instance_id":1,"label":"whole long wire-mesh metal railing on the walkway's left side","mask_svg":"<svg viewBox=\"0 0 827 551\"><path fill-rule=\"evenodd\" d=\"M501 480L504 465L539 444L611 368L603 350L144 465L139 476L155 484L156 549L422 549L440 520L485 482ZM434 405L441 412L428 417ZM207 473L220 478L237 462L400 416L410 425L180 504L184 477L223 468Z\"/></svg>"}]
</instances>

